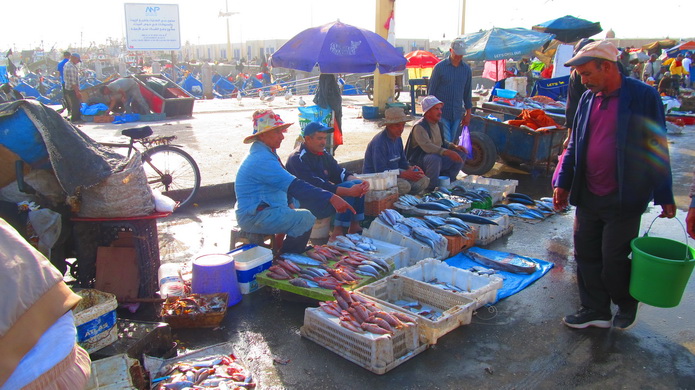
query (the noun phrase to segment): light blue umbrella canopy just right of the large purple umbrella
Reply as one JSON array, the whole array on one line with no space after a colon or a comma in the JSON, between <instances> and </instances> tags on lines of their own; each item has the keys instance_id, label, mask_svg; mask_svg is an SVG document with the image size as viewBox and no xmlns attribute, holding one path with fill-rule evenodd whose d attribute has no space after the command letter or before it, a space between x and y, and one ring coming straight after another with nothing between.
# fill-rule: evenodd
<instances>
[{"instance_id":1,"label":"light blue umbrella canopy just right of the large purple umbrella","mask_svg":"<svg viewBox=\"0 0 695 390\"><path fill-rule=\"evenodd\" d=\"M525 28L497 28L466 34L461 37L466 46L463 59L467 61L496 61L519 59L552 40L553 34Z\"/></svg>"}]
</instances>

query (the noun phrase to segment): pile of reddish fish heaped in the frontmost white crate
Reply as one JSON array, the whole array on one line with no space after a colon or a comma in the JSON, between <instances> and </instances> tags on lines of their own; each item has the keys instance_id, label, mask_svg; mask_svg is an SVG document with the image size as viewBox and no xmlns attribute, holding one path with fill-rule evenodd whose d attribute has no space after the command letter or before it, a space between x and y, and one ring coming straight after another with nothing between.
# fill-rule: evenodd
<instances>
[{"instance_id":1,"label":"pile of reddish fish heaped in the frontmost white crate","mask_svg":"<svg viewBox=\"0 0 695 390\"><path fill-rule=\"evenodd\" d=\"M340 325L356 333L393 335L396 329L415 326L415 319L398 311L387 312L359 294L337 287L335 301L320 302L325 313L337 317Z\"/></svg>"}]
</instances>

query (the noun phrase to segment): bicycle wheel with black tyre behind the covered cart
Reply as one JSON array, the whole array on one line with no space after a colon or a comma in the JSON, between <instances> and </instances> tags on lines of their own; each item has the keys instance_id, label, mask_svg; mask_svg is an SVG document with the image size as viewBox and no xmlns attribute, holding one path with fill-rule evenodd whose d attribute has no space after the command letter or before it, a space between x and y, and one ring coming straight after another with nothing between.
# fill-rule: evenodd
<instances>
[{"instance_id":1,"label":"bicycle wheel with black tyre behind the covered cart","mask_svg":"<svg viewBox=\"0 0 695 390\"><path fill-rule=\"evenodd\" d=\"M142 155L147 182L152 189L179 203L179 208L193 202L200 188L200 169L193 157L183 150L160 145Z\"/></svg>"}]
</instances>

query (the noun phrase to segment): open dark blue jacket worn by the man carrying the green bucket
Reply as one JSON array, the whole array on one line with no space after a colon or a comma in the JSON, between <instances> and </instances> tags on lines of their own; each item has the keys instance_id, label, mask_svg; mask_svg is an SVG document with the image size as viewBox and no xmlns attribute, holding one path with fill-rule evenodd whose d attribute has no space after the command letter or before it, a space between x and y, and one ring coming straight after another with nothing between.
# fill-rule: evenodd
<instances>
[{"instance_id":1,"label":"open dark blue jacket worn by the man carrying the green bucket","mask_svg":"<svg viewBox=\"0 0 695 390\"><path fill-rule=\"evenodd\" d=\"M617 179L623 212L643 213L649 202L674 204L671 163L666 143L664 106L656 89L622 76L618 108ZM556 186L570 190L570 204L582 206L586 185L586 149L594 94L586 91L572 124L572 138ZM572 191L574 190L574 191Z\"/></svg>"}]
</instances>

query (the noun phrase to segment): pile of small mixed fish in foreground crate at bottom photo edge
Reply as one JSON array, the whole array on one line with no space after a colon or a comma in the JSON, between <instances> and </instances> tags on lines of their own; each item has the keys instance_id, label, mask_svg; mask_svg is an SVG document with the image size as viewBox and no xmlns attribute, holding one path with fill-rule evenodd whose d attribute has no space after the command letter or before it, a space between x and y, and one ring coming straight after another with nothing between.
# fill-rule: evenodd
<instances>
[{"instance_id":1,"label":"pile of small mixed fish in foreground crate at bottom photo edge","mask_svg":"<svg viewBox=\"0 0 695 390\"><path fill-rule=\"evenodd\" d=\"M234 355L207 356L179 361L152 380L157 390L253 389L251 372Z\"/></svg>"}]
</instances>

